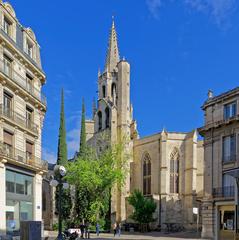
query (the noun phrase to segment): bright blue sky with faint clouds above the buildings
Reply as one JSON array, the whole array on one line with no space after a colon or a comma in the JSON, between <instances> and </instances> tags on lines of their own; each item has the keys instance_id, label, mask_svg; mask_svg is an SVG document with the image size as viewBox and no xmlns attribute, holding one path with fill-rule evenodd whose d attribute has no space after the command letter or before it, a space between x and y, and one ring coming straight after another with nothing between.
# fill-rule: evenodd
<instances>
[{"instance_id":1,"label":"bright blue sky with faint clouds above the buildings","mask_svg":"<svg viewBox=\"0 0 239 240\"><path fill-rule=\"evenodd\" d=\"M43 158L56 161L60 89L65 89L69 157L79 146L80 110L91 117L111 16L121 57L131 64L131 98L141 136L203 124L208 89L238 86L237 0L12 0L41 45L48 111Z\"/></svg>"}]
</instances>

